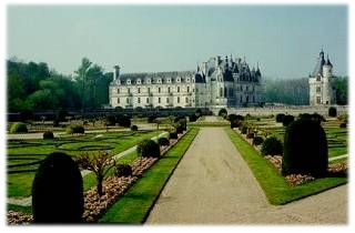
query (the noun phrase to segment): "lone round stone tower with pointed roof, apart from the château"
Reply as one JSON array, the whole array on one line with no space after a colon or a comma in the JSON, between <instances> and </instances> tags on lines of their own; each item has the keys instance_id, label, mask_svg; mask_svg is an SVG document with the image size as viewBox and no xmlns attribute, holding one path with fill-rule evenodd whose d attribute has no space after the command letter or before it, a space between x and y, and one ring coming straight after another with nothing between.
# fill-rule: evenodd
<instances>
[{"instance_id":1,"label":"lone round stone tower with pointed roof, apart from the ch\u00e2teau","mask_svg":"<svg viewBox=\"0 0 355 233\"><path fill-rule=\"evenodd\" d=\"M310 75L310 105L335 104L336 95L333 88L333 64L324 59L323 50L313 73Z\"/></svg>"}]
</instances>

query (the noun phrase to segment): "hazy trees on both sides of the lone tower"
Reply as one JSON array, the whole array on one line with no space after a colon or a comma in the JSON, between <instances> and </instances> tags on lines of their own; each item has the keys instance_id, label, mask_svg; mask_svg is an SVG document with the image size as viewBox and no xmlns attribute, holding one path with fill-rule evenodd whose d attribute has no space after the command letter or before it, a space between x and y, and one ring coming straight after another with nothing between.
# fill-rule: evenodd
<instances>
[{"instance_id":1,"label":"hazy trees on both sides of the lone tower","mask_svg":"<svg viewBox=\"0 0 355 233\"><path fill-rule=\"evenodd\" d=\"M333 87L336 91L336 103L339 105L346 105L348 89L347 77L333 78ZM308 78L290 80L266 79L264 102L308 105Z\"/></svg>"}]
</instances>

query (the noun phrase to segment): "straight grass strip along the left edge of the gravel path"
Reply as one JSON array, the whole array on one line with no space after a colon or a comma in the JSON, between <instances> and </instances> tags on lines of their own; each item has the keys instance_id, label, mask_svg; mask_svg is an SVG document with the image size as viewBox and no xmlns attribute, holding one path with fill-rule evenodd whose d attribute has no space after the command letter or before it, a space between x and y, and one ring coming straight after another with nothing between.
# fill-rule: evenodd
<instances>
[{"instance_id":1,"label":"straight grass strip along the left edge of the gravel path","mask_svg":"<svg viewBox=\"0 0 355 233\"><path fill-rule=\"evenodd\" d=\"M191 129L110 210L101 223L143 223L199 129Z\"/></svg>"}]
</instances>

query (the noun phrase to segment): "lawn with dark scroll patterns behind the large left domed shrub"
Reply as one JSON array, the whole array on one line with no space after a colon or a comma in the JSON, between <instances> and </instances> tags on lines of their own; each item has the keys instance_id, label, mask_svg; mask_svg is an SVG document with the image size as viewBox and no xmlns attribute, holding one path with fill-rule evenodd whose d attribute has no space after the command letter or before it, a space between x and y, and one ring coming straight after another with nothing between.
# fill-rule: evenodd
<instances>
[{"instance_id":1,"label":"lawn with dark scroll patterns behind the large left domed shrub","mask_svg":"<svg viewBox=\"0 0 355 233\"><path fill-rule=\"evenodd\" d=\"M162 131L109 132L54 140L16 140L8 142L8 196L31 195L32 181L41 161L54 151L75 156L84 151L108 150L118 154L144 139L159 135ZM100 136L98 136L101 134ZM129 154L130 155L130 154ZM134 158L130 155L129 158ZM122 158L123 159L123 158ZM95 183L89 174L84 186Z\"/></svg>"}]
</instances>

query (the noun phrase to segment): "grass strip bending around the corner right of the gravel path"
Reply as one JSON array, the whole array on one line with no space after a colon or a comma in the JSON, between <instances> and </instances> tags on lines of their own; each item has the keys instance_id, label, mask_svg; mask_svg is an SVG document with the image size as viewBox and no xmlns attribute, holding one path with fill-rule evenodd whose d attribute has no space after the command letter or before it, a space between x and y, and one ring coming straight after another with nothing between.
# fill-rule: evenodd
<instances>
[{"instance_id":1,"label":"grass strip bending around the corner right of the gravel path","mask_svg":"<svg viewBox=\"0 0 355 233\"><path fill-rule=\"evenodd\" d=\"M226 129L226 133L250 166L271 204L286 204L347 183L347 178L324 178L306 184L291 186L278 174L277 170L267 160L263 159L241 135L231 129Z\"/></svg>"}]
</instances>

